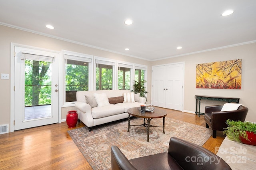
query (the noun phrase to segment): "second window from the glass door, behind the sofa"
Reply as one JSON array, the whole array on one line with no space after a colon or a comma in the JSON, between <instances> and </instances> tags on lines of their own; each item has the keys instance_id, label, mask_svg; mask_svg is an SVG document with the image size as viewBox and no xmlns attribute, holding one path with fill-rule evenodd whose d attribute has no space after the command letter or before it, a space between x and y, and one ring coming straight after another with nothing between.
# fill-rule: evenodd
<instances>
[{"instance_id":1,"label":"second window from the glass door, behind the sofa","mask_svg":"<svg viewBox=\"0 0 256 170\"><path fill-rule=\"evenodd\" d=\"M112 90L115 62L96 59L96 90Z\"/></svg>"}]
</instances>

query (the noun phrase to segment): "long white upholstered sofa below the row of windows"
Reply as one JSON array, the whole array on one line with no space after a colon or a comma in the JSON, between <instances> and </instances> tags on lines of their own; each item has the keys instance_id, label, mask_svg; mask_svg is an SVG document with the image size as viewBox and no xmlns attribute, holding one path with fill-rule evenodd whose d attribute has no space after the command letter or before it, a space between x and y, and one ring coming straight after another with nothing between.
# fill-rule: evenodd
<instances>
[{"instance_id":1,"label":"long white upholstered sofa below the row of windows","mask_svg":"<svg viewBox=\"0 0 256 170\"><path fill-rule=\"evenodd\" d=\"M95 94L96 93L96 94ZM124 94L125 93L125 94ZM132 107L139 107L140 105L145 105L146 99L144 97L139 97L138 94L135 94L133 102L121 102L116 104L107 104L101 106L102 104L97 98L98 95L105 95L110 98L109 101L113 101L113 99L117 99L120 102L120 99L124 97L124 99L128 98L127 93L130 93L130 90L98 90L98 91L78 91L76 92L76 108L78 113L78 119L82 121L91 131L92 127L96 125L102 125L104 123L109 123L112 121L128 118L127 109ZM89 101L90 99L95 98L98 99L99 103L97 106L94 107L91 105L92 102ZM104 98L104 97L103 97ZM86 99L88 101L86 102ZM123 100L124 100L123 99ZM131 100L131 99L130 99ZM98 102L97 101L97 102ZM108 102L108 101L107 101ZM88 104L89 103L89 104ZM113 103L113 102L110 102ZM100 106L100 107L99 107Z\"/></svg>"}]
</instances>

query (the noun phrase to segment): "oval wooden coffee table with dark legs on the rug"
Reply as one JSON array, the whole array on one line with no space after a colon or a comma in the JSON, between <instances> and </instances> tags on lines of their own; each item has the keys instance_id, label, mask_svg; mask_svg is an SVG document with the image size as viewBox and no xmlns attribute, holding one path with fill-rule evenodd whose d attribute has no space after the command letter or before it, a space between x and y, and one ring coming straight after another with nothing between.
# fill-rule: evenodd
<instances>
[{"instance_id":1,"label":"oval wooden coffee table with dark legs on the rug","mask_svg":"<svg viewBox=\"0 0 256 170\"><path fill-rule=\"evenodd\" d=\"M142 126L147 128L147 134L148 134L148 142L149 142L149 127L158 127L158 126L152 126L150 125L150 121L155 118L163 118L163 133L164 132L164 118L166 117L166 111L161 108L155 108L154 112L146 112L146 113L140 113L138 107L133 107L127 110L128 116L128 131L130 131L130 126ZM134 117L140 117L144 118L144 123L142 125L130 125L130 115ZM147 123L145 122L145 119L147 120Z\"/></svg>"}]
</instances>

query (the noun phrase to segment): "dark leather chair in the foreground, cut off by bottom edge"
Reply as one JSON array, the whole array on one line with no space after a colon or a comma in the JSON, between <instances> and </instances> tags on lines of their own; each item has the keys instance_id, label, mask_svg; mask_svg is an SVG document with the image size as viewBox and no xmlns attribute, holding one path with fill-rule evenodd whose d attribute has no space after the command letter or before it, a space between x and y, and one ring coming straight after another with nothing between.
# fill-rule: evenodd
<instances>
[{"instance_id":1,"label":"dark leather chair in the foreground, cut off by bottom edge","mask_svg":"<svg viewBox=\"0 0 256 170\"><path fill-rule=\"evenodd\" d=\"M194 143L172 137L168 152L128 160L111 146L112 170L231 170L219 156Z\"/></svg>"}]
</instances>

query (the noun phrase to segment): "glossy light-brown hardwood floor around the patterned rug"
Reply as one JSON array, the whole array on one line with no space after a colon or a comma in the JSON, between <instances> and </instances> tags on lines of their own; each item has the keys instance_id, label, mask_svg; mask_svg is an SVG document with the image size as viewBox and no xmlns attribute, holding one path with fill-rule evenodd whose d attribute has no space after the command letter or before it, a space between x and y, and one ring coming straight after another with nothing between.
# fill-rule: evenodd
<instances>
[{"instance_id":1,"label":"glossy light-brown hardwood floor around the patterned rug","mask_svg":"<svg viewBox=\"0 0 256 170\"><path fill-rule=\"evenodd\" d=\"M202 115L168 109L167 117L205 127ZM76 128L83 126L78 123ZM1 134L0 169L92 170L67 130L64 122ZM217 132L217 138L211 136L203 147L215 153L223 140L223 133Z\"/></svg>"}]
</instances>

